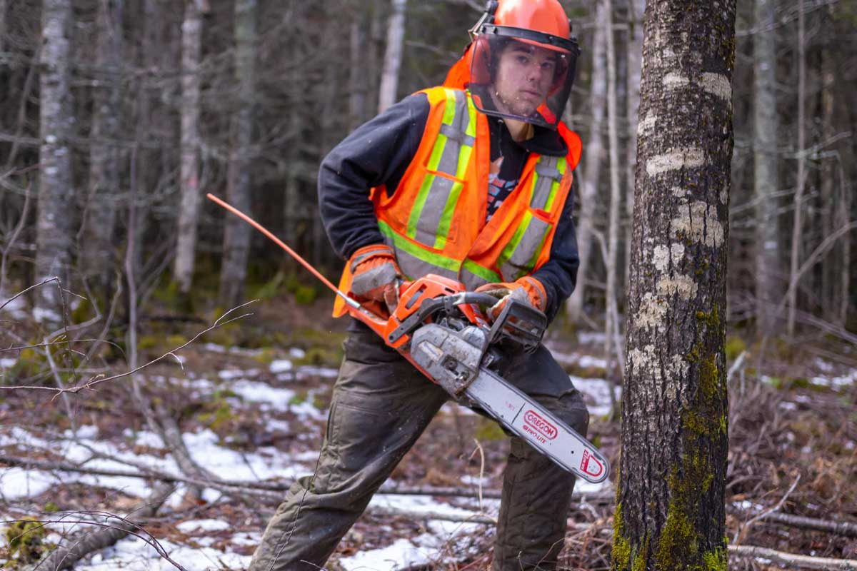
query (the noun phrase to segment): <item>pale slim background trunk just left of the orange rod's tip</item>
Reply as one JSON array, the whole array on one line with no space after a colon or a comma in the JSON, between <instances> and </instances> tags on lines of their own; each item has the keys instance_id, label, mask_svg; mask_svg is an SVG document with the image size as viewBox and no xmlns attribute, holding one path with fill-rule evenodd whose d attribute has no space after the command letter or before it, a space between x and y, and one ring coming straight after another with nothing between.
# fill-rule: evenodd
<instances>
[{"instance_id":1,"label":"pale slim background trunk just left of the orange rod's tip","mask_svg":"<svg viewBox=\"0 0 857 571\"><path fill-rule=\"evenodd\" d=\"M196 224L200 211L200 60L202 17L199 0L187 0L182 23L181 205L173 280L187 295L194 275Z\"/></svg>"}]
</instances>

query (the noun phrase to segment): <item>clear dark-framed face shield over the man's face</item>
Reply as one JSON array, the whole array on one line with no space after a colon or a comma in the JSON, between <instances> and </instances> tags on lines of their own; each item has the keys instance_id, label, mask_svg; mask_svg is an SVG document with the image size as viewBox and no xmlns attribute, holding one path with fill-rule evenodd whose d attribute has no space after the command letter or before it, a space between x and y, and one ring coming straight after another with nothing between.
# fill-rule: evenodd
<instances>
[{"instance_id":1,"label":"clear dark-framed face shield over the man's face","mask_svg":"<svg viewBox=\"0 0 857 571\"><path fill-rule=\"evenodd\" d=\"M556 128L572 91L577 42L489 24L474 32L468 87L476 109Z\"/></svg>"}]
</instances>

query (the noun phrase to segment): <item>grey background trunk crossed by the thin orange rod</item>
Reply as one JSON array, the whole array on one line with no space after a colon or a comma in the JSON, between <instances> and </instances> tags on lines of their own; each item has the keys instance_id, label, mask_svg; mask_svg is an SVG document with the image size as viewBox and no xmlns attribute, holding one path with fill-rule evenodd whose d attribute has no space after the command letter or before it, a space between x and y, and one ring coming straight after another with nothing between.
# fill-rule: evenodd
<instances>
[{"instance_id":1,"label":"grey background trunk crossed by the thin orange rod","mask_svg":"<svg viewBox=\"0 0 857 571\"><path fill-rule=\"evenodd\" d=\"M250 162L255 117L256 0L235 4L235 73L238 110L232 115L232 141L227 196L232 205L250 211ZM220 271L220 304L240 305L247 277L250 226L238 217L226 217L223 266Z\"/></svg>"}]
</instances>

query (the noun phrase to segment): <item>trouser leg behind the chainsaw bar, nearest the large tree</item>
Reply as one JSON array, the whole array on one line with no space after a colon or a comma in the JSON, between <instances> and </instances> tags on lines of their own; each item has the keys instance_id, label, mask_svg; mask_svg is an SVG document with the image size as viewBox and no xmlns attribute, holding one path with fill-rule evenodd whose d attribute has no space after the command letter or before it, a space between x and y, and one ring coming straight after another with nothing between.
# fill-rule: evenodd
<instances>
[{"instance_id":1,"label":"trouser leg behind the chainsaw bar, nearest the large tree","mask_svg":"<svg viewBox=\"0 0 857 571\"><path fill-rule=\"evenodd\" d=\"M500 374L586 436L589 413L583 397L548 349L540 346L534 354L514 354ZM556 568L574 482L572 474L523 439L512 437L503 473L494 571Z\"/></svg>"}]
</instances>

